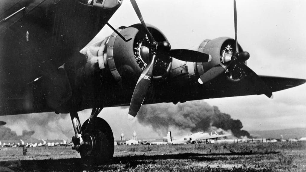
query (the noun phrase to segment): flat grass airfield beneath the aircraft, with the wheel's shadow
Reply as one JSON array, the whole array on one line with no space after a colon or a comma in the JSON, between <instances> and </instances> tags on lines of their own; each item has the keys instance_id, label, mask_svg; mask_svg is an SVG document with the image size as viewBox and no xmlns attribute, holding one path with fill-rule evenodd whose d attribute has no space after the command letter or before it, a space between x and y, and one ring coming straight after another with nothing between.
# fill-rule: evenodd
<instances>
[{"instance_id":1,"label":"flat grass airfield beneath the aircraft, with the wheel's shadow","mask_svg":"<svg viewBox=\"0 0 306 172\"><path fill-rule=\"evenodd\" d=\"M0 161L0 171L306 171L306 142L115 146L102 166L71 147L0 148Z\"/></svg>"}]
</instances>

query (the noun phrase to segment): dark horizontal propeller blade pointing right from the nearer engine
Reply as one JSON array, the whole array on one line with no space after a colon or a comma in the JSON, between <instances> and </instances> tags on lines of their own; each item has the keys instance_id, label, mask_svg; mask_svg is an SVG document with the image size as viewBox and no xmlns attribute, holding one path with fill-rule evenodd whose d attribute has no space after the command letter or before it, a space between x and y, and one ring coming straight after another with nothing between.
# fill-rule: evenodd
<instances>
[{"instance_id":1,"label":"dark horizontal propeller blade pointing right from the nearer engine","mask_svg":"<svg viewBox=\"0 0 306 172\"><path fill-rule=\"evenodd\" d=\"M186 62L206 63L211 61L211 55L209 54L186 49L170 50L169 56Z\"/></svg>"}]
</instances>

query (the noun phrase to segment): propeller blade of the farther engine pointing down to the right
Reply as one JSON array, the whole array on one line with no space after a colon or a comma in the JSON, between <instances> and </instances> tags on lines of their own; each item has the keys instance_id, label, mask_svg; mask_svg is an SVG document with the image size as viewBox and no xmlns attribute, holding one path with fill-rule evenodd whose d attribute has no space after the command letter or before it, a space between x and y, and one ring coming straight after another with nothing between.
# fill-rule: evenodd
<instances>
[{"instance_id":1,"label":"propeller blade of the farther engine pointing down to the right","mask_svg":"<svg viewBox=\"0 0 306 172\"><path fill-rule=\"evenodd\" d=\"M262 92L263 94L265 94L267 97L272 99L273 94L272 94L270 88L266 85L266 83L263 82L263 80L261 80L260 77L252 69L250 69L248 66L246 66L244 63L240 63L239 65L243 68L247 77L259 89L259 91Z\"/></svg>"}]
</instances>

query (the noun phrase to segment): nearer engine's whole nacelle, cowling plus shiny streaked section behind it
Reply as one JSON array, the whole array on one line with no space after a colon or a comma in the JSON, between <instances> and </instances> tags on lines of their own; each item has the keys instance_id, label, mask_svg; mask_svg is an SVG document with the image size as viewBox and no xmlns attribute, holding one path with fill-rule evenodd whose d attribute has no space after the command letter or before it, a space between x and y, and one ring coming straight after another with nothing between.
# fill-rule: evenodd
<instances>
[{"instance_id":1,"label":"nearer engine's whole nacelle, cowling plus shiny streaked section behind it","mask_svg":"<svg viewBox=\"0 0 306 172\"><path fill-rule=\"evenodd\" d=\"M147 24L148 29L157 42L166 41L166 37L156 27ZM100 69L109 69L114 79L125 85L135 86L140 74L150 60L150 42L141 24L129 27L121 26L117 31L125 37L123 40L114 32L103 41L95 43L81 51L87 56L85 73ZM97 65L98 64L98 65ZM170 73L172 58L159 55L155 61L153 79L166 79ZM99 70L99 69L98 69Z\"/></svg>"}]
</instances>

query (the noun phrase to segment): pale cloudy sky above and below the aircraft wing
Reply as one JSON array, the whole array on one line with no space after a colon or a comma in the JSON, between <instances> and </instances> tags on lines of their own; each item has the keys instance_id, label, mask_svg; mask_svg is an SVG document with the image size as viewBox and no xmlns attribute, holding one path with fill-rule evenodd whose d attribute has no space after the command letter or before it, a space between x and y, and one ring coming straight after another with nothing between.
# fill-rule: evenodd
<instances>
[{"instance_id":1,"label":"pale cloudy sky above and below the aircraft wing","mask_svg":"<svg viewBox=\"0 0 306 172\"><path fill-rule=\"evenodd\" d=\"M137 0L146 23L159 28L171 43L171 48L195 49L204 39L221 36L234 38L233 1L230 0ZM250 53L248 66L258 75L306 79L306 1L304 0L237 0L238 42ZM140 23L129 0L125 0L109 23L114 27ZM113 31L107 26L92 42ZM218 106L234 119L241 120L244 130L269 130L306 127L306 84L280 92L274 99L265 95L208 99L205 102ZM170 103L172 104L172 103ZM172 105L169 105L172 106ZM81 122L91 110L80 113ZM141 125L136 119L127 119L127 107L104 108L100 117L113 129L115 140L121 131L139 137L160 136L150 126ZM34 119L35 115L26 115ZM73 130L69 115L45 115L50 119L54 134L49 137L65 137L62 130ZM18 116L0 116L7 126L21 134L22 129L35 129L35 137L46 137L39 127L29 122L16 123ZM9 123L11 122L11 123ZM53 126L54 125L54 126ZM58 127L60 125L60 127ZM36 128L35 128L36 127ZM38 127L38 128L37 128ZM166 135L166 133L165 133ZM305 133L306 136L306 133Z\"/></svg>"}]
</instances>

